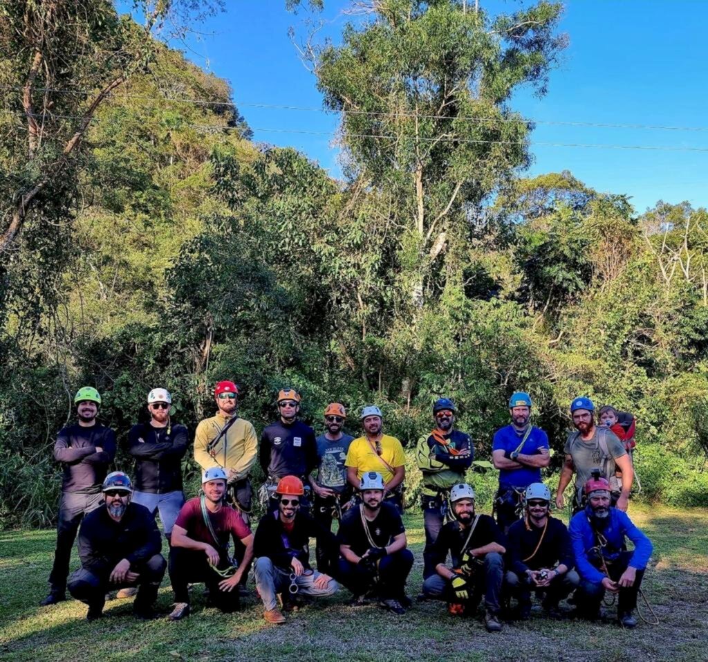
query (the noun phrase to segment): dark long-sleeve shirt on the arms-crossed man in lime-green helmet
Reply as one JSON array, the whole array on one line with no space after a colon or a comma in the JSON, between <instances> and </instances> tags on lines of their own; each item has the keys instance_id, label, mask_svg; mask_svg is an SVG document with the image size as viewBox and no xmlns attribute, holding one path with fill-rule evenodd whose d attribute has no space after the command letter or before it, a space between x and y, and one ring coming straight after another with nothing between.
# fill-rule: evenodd
<instances>
[{"instance_id":1,"label":"dark long-sleeve shirt on the arms-crossed man in lime-green helmet","mask_svg":"<svg viewBox=\"0 0 708 662\"><path fill-rule=\"evenodd\" d=\"M101 452L96 452L96 447ZM95 494L101 491L108 465L115 457L115 433L96 423L89 428L73 426L59 430L54 459L64 464L62 491Z\"/></svg>"}]
</instances>

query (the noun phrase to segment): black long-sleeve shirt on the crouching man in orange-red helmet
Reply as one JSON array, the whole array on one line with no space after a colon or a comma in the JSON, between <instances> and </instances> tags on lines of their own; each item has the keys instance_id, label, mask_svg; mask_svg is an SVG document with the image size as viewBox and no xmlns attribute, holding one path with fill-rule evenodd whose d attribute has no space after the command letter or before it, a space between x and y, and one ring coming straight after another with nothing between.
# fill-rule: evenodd
<instances>
[{"instance_id":1,"label":"black long-sleeve shirt on the crouching man in orange-red helmet","mask_svg":"<svg viewBox=\"0 0 708 662\"><path fill-rule=\"evenodd\" d=\"M326 557L332 561L338 557L336 537L309 515L297 513L292 530L287 531L280 521L280 513L263 515L253 538L253 556L268 557L273 565L290 572L293 557L309 569L309 539L315 538Z\"/></svg>"}]
</instances>

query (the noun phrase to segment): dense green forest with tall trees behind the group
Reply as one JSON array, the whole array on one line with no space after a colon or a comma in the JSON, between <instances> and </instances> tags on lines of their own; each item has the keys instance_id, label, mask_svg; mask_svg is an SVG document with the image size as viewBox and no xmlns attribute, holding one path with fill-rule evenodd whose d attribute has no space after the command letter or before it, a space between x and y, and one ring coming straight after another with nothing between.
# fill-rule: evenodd
<instances>
[{"instance_id":1,"label":"dense green forest with tall trees behind the group","mask_svg":"<svg viewBox=\"0 0 708 662\"><path fill-rule=\"evenodd\" d=\"M560 4L358 4L303 51L335 180L253 142L227 81L166 45L218 3L0 0L1 526L52 523L79 387L125 441L149 389L193 430L220 379L259 433L294 387L317 430L329 401L353 432L376 404L406 447L448 396L482 461L525 390L551 481L590 396L638 420L639 498L708 505L707 210L527 175L513 93L552 87Z\"/></svg>"}]
</instances>

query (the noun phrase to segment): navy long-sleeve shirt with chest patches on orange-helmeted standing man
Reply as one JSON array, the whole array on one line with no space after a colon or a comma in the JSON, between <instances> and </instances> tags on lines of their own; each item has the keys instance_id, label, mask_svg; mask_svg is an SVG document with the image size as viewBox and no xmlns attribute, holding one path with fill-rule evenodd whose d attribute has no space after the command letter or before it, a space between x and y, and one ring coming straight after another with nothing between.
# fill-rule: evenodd
<instances>
[{"instance_id":1,"label":"navy long-sleeve shirt with chest patches on orange-helmeted standing man","mask_svg":"<svg viewBox=\"0 0 708 662\"><path fill-rule=\"evenodd\" d=\"M314 431L302 421L271 423L261 435L258 460L266 476L309 476L319 464Z\"/></svg>"}]
</instances>

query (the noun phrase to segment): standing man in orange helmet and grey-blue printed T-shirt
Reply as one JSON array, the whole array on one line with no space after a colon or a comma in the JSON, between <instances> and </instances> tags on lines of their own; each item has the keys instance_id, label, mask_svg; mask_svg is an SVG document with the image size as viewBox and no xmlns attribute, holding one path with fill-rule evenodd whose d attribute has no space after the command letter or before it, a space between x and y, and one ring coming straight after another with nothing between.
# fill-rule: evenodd
<instances>
[{"instance_id":1,"label":"standing man in orange helmet and grey-blue printed T-shirt","mask_svg":"<svg viewBox=\"0 0 708 662\"><path fill-rule=\"evenodd\" d=\"M342 431L346 418L346 409L342 404L331 402L327 405L324 410L324 426L327 431L317 438L317 476L309 476L314 491L312 516L327 530L331 530L334 518L341 519L342 508L346 508L346 502L351 496L344 461L353 436ZM331 569L325 567L326 554L319 545L315 556L317 568L329 572Z\"/></svg>"}]
</instances>

